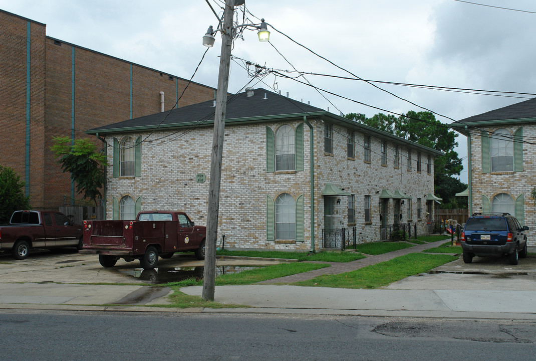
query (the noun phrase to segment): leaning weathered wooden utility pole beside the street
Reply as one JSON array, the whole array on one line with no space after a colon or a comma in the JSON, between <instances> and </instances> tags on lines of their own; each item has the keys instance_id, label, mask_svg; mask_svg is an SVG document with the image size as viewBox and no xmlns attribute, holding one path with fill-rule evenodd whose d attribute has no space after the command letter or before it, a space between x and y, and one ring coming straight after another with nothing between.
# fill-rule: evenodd
<instances>
[{"instance_id":1,"label":"leaning weathered wooden utility pole beside the street","mask_svg":"<svg viewBox=\"0 0 536 361\"><path fill-rule=\"evenodd\" d=\"M203 271L203 299L205 301L214 300L216 282L216 243L218 240L218 213L220 207L221 158L224 150L225 112L227 110L229 65L234 32L234 4L235 0L225 1L224 24L222 28L220 70L218 73L218 90L216 92L214 134L212 136L209 209L206 220L205 269Z\"/></svg>"}]
</instances>

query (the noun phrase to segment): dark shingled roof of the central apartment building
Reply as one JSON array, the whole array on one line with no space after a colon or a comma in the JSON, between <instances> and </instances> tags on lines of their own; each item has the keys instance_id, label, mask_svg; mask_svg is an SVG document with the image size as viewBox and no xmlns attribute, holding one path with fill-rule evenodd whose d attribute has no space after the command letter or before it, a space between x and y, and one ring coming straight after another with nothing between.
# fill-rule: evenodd
<instances>
[{"instance_id":1,"label":"dark shingled roof of the central apartment building","mask_svg":"<svg viewBox=\"0 0 536 361\"><path fill-rule=\"evenodd\" d=\"M172 109L171 111L166 110L161 113L108 124L107 126L93 128L85 132L87 134L96 134L98 132L120 132L127 129L135 130L136 128L154 128L157 126L160 128L168 128L195 122L197 122L197 124L213 124L215 110L213 104L213 100L205 101L199 104ZM281 117L292 114L299 116L300 114L308 115L318 112L325 113L325 110L260 88L254 90L254 95L252 97L248 97L247 92L229 95L227 97L225 118L226 120L273 118L278 115Z\"/></svg>"}]
</instances>

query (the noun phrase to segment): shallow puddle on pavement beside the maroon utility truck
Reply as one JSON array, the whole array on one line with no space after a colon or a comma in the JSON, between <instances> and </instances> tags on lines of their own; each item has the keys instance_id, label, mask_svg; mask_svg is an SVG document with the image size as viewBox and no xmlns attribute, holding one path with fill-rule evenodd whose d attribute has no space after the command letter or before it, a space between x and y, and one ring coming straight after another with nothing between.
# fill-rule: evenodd
<instances>
[{"instance_id":1,"label":"shallow puddle on pavement beside the maroon utility truck","mask_svg":"<svg viewBox=\"0 0 536 361\"><path fill-rule=\"evenodd\" d=\"M259 268L257 266L217 266L216 276L230 273L240 273L249 269ZM123 275L142 279L146 283L168 283L178 282L184 279L203 279L203 266L199 267L157 267L155 269L129 268L118 269Z\"/></svg>"}]
</instances>

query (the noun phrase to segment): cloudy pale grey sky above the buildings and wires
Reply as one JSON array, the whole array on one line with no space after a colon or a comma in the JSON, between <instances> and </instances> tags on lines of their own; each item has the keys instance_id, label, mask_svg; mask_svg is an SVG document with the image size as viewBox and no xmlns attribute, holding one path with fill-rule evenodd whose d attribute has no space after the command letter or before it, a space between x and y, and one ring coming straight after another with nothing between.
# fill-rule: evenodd
<instances>
[{"instance_id":1,"label":"cloudy pale grey sky above the buildings and wires","mask_svg":"<svg viewBox=\"0 0 536 361\"><path fill-rule=\"evenodd\" d=\"M246 0L252 22L265 18L281 33L354 75L384 82L487 91L536 93L536 2L534 0ZM222 1L209 0L219 16ZM513 11L492 6L524 10ZM189 79L205 47L202 36L217 17L204 0L0 0L0 9L47 24L47 35ZM242 12L240 12L242 21ZM234 42L237 58L272 69L349 76L269 27L270 43L255 31ZM217 86L221 39L206 54L194 81ZM279 54L280 53L280 54ZM292 65L291 65L292 64ZM231 63L229 92L251 78L240 60ZM277 89L291 98L336 114L380 110L394 113L418 107L358 80L306 76L324 94L292 79L268 75L250 85ZM301 78L303 79L303 78ZM497 97L466 92L377 84L421 107L444 115L445 123L536 97ZM520 97L520 98L519 98ZM331 104L330 104L331 102ZM466 139L457 138L460 157ZM466 162L464 167L466 167ZM460 176L467 181L467 172Z\"/></svg>"}]
</instances>

